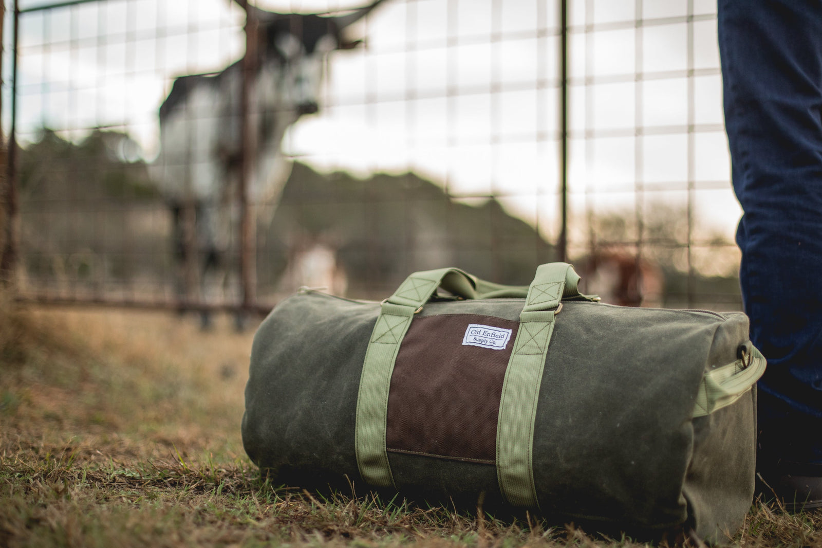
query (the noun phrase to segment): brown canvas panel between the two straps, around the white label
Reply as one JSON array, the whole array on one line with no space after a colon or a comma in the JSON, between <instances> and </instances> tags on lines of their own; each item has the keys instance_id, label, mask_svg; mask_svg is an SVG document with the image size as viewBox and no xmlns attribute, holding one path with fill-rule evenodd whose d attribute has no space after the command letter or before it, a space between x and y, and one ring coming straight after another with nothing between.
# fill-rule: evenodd
<instances>
[{"instance_id":1,"label":"brown canvas panel between the two straps, around the white label","mask_svg":"<svg viewBox=\"0 0 822 548\"><path fill-rule=\"evenodd\" d=\"M472 323L510 329L505 349L464 345ZM388 450L493 464L502 383L519 325L480 314L414 318L391 377Z\"/></svg>"}]
</instances>

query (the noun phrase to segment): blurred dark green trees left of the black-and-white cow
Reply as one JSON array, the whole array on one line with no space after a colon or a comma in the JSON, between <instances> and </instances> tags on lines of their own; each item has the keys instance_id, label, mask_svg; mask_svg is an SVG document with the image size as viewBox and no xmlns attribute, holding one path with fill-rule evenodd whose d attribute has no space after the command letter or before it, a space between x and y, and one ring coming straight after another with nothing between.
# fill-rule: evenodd
<instances>
[{"instance_id":1,"label":"blurred dark green trees left of the black-and-white cow","mask_svg":"<svg viewBox=\"0 0 822 548\"><path fill-rule=\"evenodd\" d=\"M72 142L44 128L18 165L24 283L100 290L163 271L164 206L127 133Z\"/></svg>"}]
</instances>

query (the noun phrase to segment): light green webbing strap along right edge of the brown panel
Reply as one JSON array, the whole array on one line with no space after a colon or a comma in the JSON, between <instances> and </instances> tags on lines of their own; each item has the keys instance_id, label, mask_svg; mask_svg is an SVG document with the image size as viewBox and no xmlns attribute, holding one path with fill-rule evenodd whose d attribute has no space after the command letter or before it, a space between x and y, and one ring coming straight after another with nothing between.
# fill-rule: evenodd
<instances>
[{"instance_id":1,"label":"light green webbing strap along right edge of the brown panel","mask_svg":"<svg viewBox=\"0 0 822 548\"><path fill-rule=\"evenodd\" d=\"M579 280L569 264L543 264L537 269L520 313L496 428L496 476L502 495L515 506L539 505L533 482L533 424L539 385L560 301L563 296L580 295Z\"/></svg>"}]
</instances>

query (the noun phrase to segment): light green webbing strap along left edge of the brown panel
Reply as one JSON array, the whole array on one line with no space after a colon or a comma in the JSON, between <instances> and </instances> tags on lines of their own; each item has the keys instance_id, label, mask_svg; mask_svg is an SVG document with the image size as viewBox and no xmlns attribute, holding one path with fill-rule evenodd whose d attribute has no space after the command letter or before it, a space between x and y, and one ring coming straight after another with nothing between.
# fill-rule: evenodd
<instances>
[{"instance_id":1,"label":"light green webbing strap along left edge of the brown panel","mask_svg":"<svg viewBox=\"0 0 822 548\"><path fill-rule=\"evenodd\" d=\"M354 442L360 475L368 485L395 487L386 452L391 374L411 318L439 286L466 299L476 296L476 280L456 268L414 272L382 302L376 318L360 377Z\"/></svg>"}]
</instances>

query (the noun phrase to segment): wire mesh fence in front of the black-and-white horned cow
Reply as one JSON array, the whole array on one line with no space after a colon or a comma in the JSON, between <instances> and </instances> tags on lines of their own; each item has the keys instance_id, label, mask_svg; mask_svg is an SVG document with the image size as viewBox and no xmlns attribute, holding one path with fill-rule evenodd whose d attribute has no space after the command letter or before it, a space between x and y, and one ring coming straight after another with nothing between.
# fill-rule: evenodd
<instances>
[{"instance_id":1,"label":"wire mesh fence in front of the black-and-white horned cow","mask_svg":"<svg viewBox=\"0 0 822 548\"><path fill-rule=\"evenodd\" d=\"M21 1L18 294L265 309L566 258L740 308L715 4L563 3Z\"/></svg>"}]
</instances>

